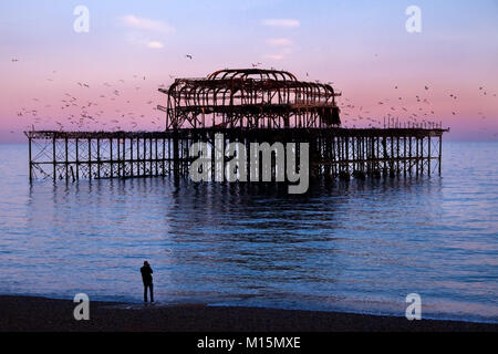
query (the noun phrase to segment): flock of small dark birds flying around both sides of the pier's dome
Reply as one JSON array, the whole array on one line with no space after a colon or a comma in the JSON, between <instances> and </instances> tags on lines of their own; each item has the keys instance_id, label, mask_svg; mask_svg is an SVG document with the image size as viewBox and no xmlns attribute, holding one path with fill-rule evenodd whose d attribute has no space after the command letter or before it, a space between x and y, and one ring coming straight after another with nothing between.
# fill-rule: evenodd
<instances>
[{"instance_id":1,"label":"flock of small dark birds flying around both sides of the pier's dome","mask_svg":"<svg viewBox=\"0 0 498 354\"><path fill-rule=\"evenodd\" d=\"M193 60L191 54L186 54L186 59ZM12 59L13 63L19 62L18 59ZM259 67L262 63L257 62L251 64L252 67ZM273 69L273 67L272 67ZM53 71L52 74L56 74ZM307 72L307 77L309 73ZM175 75L169 75L170 80L175 79ZM48 77L46 81L53 82L53 77ZM133 75L133 88L135 92L142 88L137 84L137 81L145 82L146 76L144 75ZM320 83L320 81L317 81ZM328 82L332 85L333 82ZM139 105L146 107L142 114L136 113L137 103L128 98L129 94L124 94L124 90L129 90L131 86L125 85L125 80L120 79L117 82L104 82L101 84L101 88L104 87L105 92L97 94L96 98L89 100L89 94L95 94L97 87L91 86L86 82L76 82L75 86L79 90L87 91L85 94L76 95L72 92L64 92L61 100L55 104L45 104L41 106L41 100L34 97L33 102L37 103L34 107L21 107L17 115L20 118L30 117L31 121L28 125L28 129L34 129L35 126L46 127L48 125L55 123L60 131L76 131L76 129L107 129L107 131L122 131L124 128L137 129L144 124L151 123L153 126L159 128L162 118L158 116L148 119L147 116L151 115L151 111L157 111L156 105L153 100L144 100ZM156 84L154 87L166 87L164 83ZM398 85L395 85L394 92L400 92ZM155 91L155 90L154 90ZM425 85L423 91L415 95L414 97L405 97L402 94L396 94L395 98L383 98L370 108L365 105L354 104L351 98L338 97L339 106L341 107L341 121L342 125L345 127L438 127L440 123L435 122L437 118L437 112L430 102L432 88L429 85ZM478 87L478 92L483 96L494 96L496 93L491 94L484 86ZM455 93L447 93L448 98L457 102L458 96ZM133 94L132 96L137 96ZM345 102L342 102L344 100ZM113 112L108 112L110 107L116 105ZM133 110L131 110L133 107ZM42 110L59 110L55 114L59 118L54 121L53 112L50 116L43 114ZM135 111L135 112L134 112ZM373 112L374 111L374 112ZM452 115L457 115L456 111L452 111ZM112 116L113 119L108 121ZM382 116L382 121L378 118ZM478 112L478 116L481 119L487 119L483 112ZM148 119L148 121L147 121ZM11 132L14 133L14 132ZM498 133L494 135L498 136Z\"/></svg>"}]
</instances>

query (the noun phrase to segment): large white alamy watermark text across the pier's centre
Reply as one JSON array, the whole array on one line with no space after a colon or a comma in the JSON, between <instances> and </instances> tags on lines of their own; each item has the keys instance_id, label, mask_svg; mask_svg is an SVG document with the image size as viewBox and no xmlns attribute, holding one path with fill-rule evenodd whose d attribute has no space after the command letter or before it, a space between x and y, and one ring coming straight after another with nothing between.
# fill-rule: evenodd
<instances>
[{"instance_id":1,"label":"large white alamy watermark text across the pier's centre","mask_svg":"<svg viewBox=\"0 0 498 354\"><path fill-rule=\"evenodd\" d=\"M242 143L226 146L224 135L216 134L214 145L198 142L190 146L189 156L196 159L189 175L193 181L211 181L212 176L215 181L288 181L294 184L289 185L289 194L304 194L309 187L309 155L308 143L250 143L247 148Z\"/></svg>"}]
</instances>

